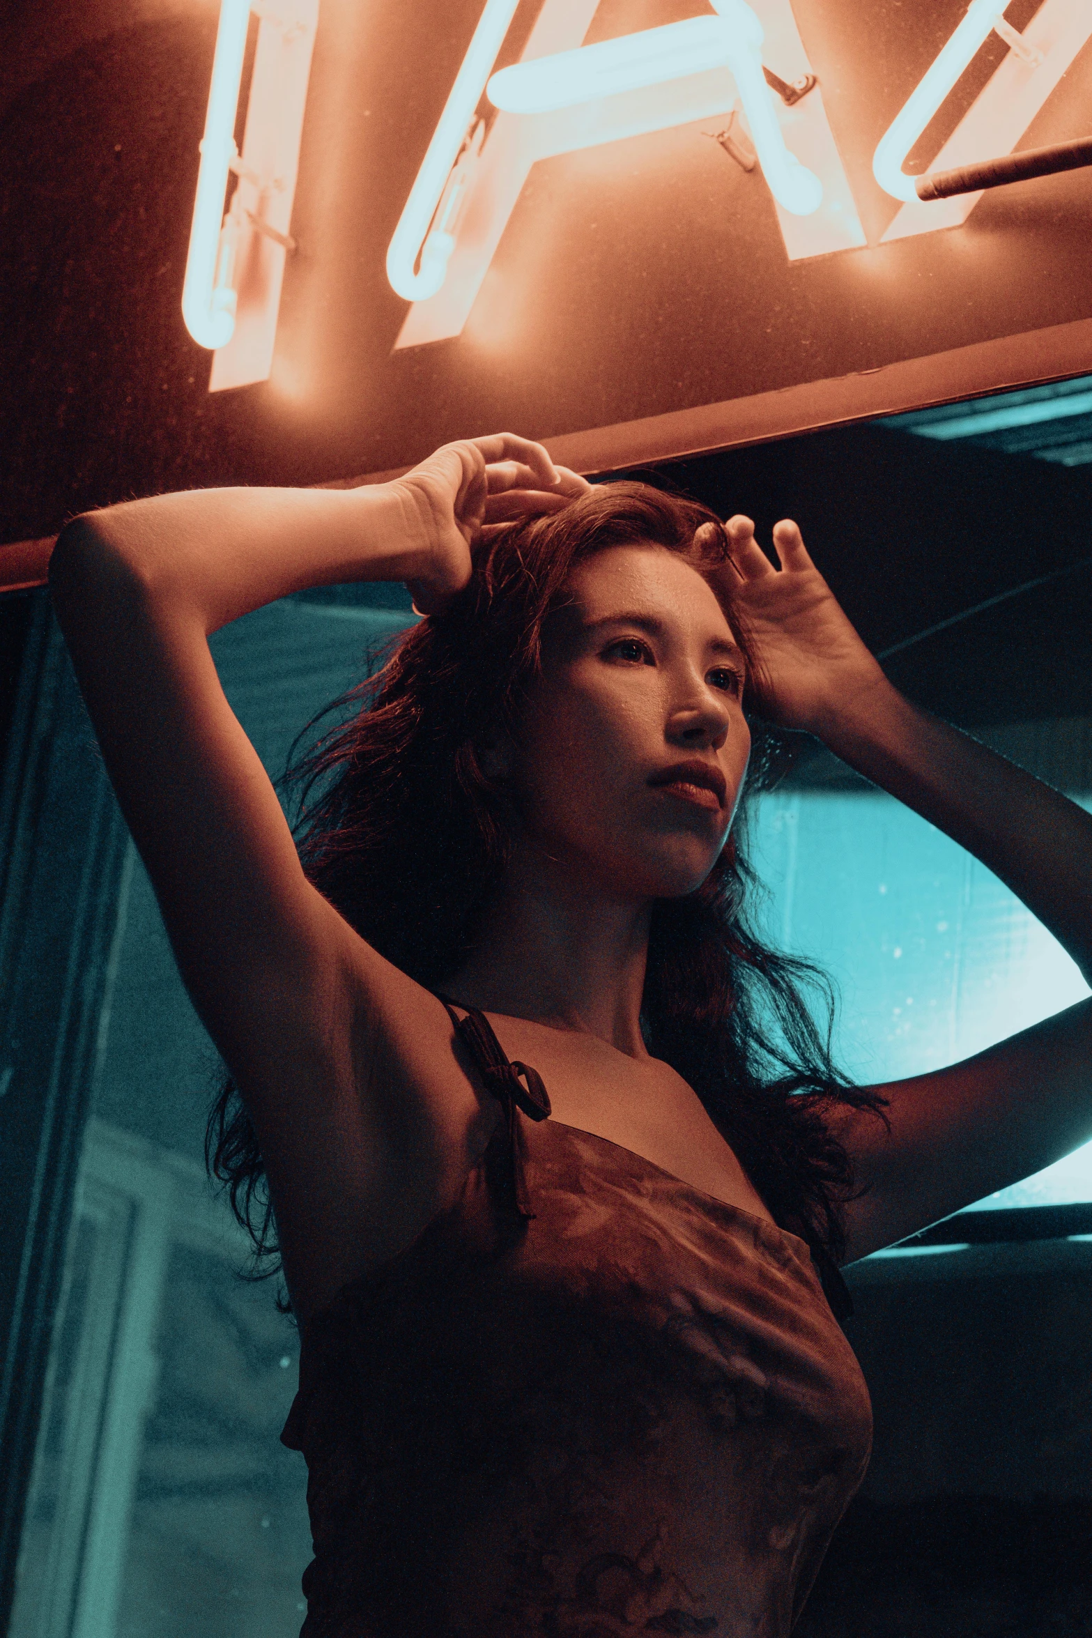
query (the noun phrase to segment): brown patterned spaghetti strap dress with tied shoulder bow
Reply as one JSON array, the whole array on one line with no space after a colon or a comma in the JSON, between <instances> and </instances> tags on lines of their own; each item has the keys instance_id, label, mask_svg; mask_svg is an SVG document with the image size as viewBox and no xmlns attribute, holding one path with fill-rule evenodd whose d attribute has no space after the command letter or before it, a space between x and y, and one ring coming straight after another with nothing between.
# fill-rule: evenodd
<instances>
[{"instance_id":1,"label":"brown patterned spaghetti strap dress with tied shoulder bow","mask_svg":"<svg viewBox=\"0 0 1092 1638\"><path fill-rule=\"evenodd\" d=\"M873 1428L809 1247L550 1120L449 1011L503 1119L303 1330L301 1638L784 1638Z\"/></svg>"}]
</instances>

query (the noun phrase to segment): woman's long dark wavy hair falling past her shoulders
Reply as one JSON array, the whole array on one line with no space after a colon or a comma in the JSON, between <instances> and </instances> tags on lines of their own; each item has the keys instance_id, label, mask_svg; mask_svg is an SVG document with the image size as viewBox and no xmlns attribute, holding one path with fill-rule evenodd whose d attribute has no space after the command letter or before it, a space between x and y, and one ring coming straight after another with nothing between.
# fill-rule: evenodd
<instances>
[{"instance_id":1,"label":"woman's long dark wavy hair falling past her shoulders","mask_svg":"<svg viewBox=\"0 0 1092 1638\"><path fill-rule=\"evenodd\" d=\"M666 547L706 575L729 557L727 534L706 506L647 483L598 485L562 513L491 536L445 611L393 639L378 672L327 708L336 726L308 745L309 724L293 747L285 781L300 804L296 845L308 880L427 989L442 988L475 947L521 822L514 793L486 771L483 750L498 731L519 739L571 570L634 542ZM748 675L761 675L724 578L717 596ZM855 1088L833 1063L835 996L825 973L769 948L756 930L747 804L768 788L776 762L771 735L760 731L743 801L709 876L653 906L640 1024L650 1053L694 1088L776 1222L838 1260L855 1179L828 1115L840 1106L881 1114L884 1099ZM206 1161L250 1233L254 1278L275 1274L265 1166L231 1079L210 1114Z\"/></svg>"}]
</instances>

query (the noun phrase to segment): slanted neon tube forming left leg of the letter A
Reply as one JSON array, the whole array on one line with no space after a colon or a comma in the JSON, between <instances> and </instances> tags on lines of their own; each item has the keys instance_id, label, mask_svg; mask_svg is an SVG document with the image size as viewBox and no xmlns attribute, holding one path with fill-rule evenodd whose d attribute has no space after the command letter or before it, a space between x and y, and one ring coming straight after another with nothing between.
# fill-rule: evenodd
<instances>
[{"instance_id":1,"label":"slanted neon tube forming left leg of the letter A","mask_svg":"<svg viewBox=\"0 0 1092 1638\"><path fill-rule=\"evenodd\" d=\"M386 251L386 277L406 301L424 301L444 283L455 241L445 226L439 226L435 233L429 233L429 228L467 141L473 111L496 54L504 44L517 3L519 0L486 0L440 123L395 228ZM419 269L417 257L421 257Z\"/></svg>"}]
</instances>

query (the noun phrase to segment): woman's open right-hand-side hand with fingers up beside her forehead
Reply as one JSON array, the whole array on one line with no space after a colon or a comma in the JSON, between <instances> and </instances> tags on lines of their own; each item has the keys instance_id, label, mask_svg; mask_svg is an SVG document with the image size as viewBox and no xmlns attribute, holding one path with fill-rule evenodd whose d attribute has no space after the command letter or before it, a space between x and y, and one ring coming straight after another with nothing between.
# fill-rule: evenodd
<instances>
[{"instance_id":1,"label":"woman's open right-hand-side hand with fingers up beside her forehead","mask_svg":"<svg viewBox=\"0 0 1092 1638\"><path fill-rule=\"evenodd\" d=\"M822 739L842 713L889 683L789 518L773 531L779 568L755 539L750 518L729 518L725 529L730 562L719 575L755 649L755 704L771 722Z\"/></svg>"}]
</instances>

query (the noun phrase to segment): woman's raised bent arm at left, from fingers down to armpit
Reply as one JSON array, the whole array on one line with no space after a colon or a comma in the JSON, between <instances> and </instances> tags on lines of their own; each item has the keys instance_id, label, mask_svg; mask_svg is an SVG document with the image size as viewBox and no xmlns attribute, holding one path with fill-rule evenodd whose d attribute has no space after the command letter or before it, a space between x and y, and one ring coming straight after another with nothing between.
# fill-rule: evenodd
<instances>
[{"instance_id":1,"label":"woman's raised bent arm at left, from fingers down to armpit","mask_svg":"<svg viewBox=\"0 0 1092 1638\"><path fill-rule=\"evenodd\" d=\"M465 585L483 527L555 509L581 482L501 434L445 446L390 485L164 495L77 518L57 542L57 616L182 978L254 1114L296 1294L337 1274L332 1248L347 1230L357 1245L380 1219L406 1230L391 1176L427 1192L473 1096L440 1004L306 881L208 636L332 581L406 580L435 606ZM434 1029L414 1029L421 1007L434 1007ZM401 1061L398 1037L401 1058L421 1061ZM367 1097L377 1052L386 1109ZM434 1106L450 1094L450 1132L414 1122L414 1088ZM427 1202L403 1206L413 1217ZM308 1224L306 1247L293 1219Z\"/></svg>"}]
</instances>

